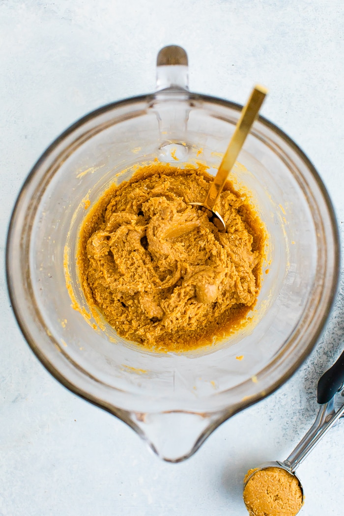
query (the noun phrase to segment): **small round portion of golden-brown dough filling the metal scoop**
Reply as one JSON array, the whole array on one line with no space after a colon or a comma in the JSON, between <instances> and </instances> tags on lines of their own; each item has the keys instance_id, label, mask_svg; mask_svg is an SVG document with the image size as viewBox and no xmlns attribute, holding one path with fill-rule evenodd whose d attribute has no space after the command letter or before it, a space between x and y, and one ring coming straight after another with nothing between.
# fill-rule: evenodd
<instances>
[{"instance_id":1,"label":"small round portion of golden-brown dough filling the metal scoop","mask_svg":"<svg viewBox=\"0 0 344 516\"><path fill-rule=\"evenodd\" d=\"M243 499L250 516L295 516L302 507L300 482L282 467L249 470Z\"/></svg>"}]
</instances>

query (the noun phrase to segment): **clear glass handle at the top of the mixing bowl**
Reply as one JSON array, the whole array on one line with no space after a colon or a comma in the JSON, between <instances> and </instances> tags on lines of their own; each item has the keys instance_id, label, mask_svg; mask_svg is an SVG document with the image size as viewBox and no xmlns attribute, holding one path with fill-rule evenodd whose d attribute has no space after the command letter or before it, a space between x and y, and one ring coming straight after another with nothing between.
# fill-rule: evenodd
<instances>
[{"instance_id":1,"label":"clear glass handle at the top of the mixing bowl","mask_svg":"<svg viewBox=\"0 0 344 516\"><path fill-rule=\"evenodd\" d=\"M164 46L158 53L156 91L167 88L189 89L188 56L181 46Z\"/></svg>"}]
</instances>

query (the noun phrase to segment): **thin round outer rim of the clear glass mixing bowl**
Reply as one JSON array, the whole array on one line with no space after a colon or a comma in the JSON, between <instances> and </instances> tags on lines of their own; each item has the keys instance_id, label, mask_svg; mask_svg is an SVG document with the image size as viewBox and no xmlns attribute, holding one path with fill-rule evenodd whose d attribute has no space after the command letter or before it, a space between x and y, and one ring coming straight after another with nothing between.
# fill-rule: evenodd
<instances>
[{"instance_id":1,"label":"thin round outer rim of the clear glass mixing bowl","mask_svg":"<svg viewBox=\"0 0 344 516\"><path fill-rule=\"evenodd\" d=\"M132 96L127 99L119 100L116 102L112 102L109 104L106 104L104 106L101 106L100 108L97 108L93 111L90 111L85 116L78 119L76 122L71 124L67 129L65 129L51 144L46 148L46 150L42 153L42 155L39 157L35 165L31 168L29 174L27 175L20 191L17 197L17 200L15 201L14 207L12 209L12 213L10 216L10 222L7 232L7 239L6 239L6 281L7 281L7 287L9 292L9 298L11 301L12 310L14 312L15 318L17 319L19 328L30 346L31 350L35 353L36 357L40 360L40 362L43 364L43 366L52 374L52 376L57 379L62 385L64 385L67 389L69 389L71 392L77 394L78 396L90 401L92 404L102 407L105 410L108 410L114 415L117 415L121 418L125 423L127 423L129 426L134 428L139 434L142 433L142 431L135 425L135 423L130 419L126 411L113 406L107 406L106 402L101 400L101 398L98 398L94 396L93 394L80 389L80 387L73 383L68 378L64 377L62 373L60 373L59 369L54 366L54 364L45 356L45 354L42 352L41 348L36 344L34 341L34 338L31 336L30 332L27 330L25 322L21 318L20 310L17 307L17 301L15 300L15 294L14 294L14 285L13 285L13 279L11 277L11 264L9 259L9 250L12 245L12 233L13 228L15 225L15 221L18 216L19 206L21 203L21 199L25 196L25 190L27 186L30 184L32 179L34 178L36 172L40 167L43 165L45 160L54 152L54 150L58 147L60 143L63 142L66 138L68 138L74 131L76 131L78 128L86 124L87 122L91 121L92 119L96 118L97 116L100 116L104 114L105 112L117 109L119 107L128 107L135 103L145 102L145 103L152 103L159 99L159 97L163 95L164 99L169 101L170 99L174 100L187 100L187 101L200 101L200 102L207 102L210 104L215 104L219 106L223 106L225 108L230 108L236 111L240 111L242 109L242 105L227 101L225 99L221 99L215 96L210 95L204 95L200 93L193 93L186 91L184 89L178 89L178 88L168 88L166 90L160 90L155 93L149 93L149 94L143 94L138 96ZM274 391L276 391L281 385L283 385L302 365L302 363L305 361L305 359L309 356L310 352L313 350L315 344L318 341L318 338L320 334L322 333L324 326L326 324L327 319L330 316L331 309L337 294L337 288L338 288L338 280L339 280L339 267L340 267L340 245L339 245L339 231L338 231L338 224L337 219L335 216L334 207L331 201L331 198L329 196L329 193L327 192L319 173L315 169L312 162L310 162L309 158L306 156L306 154L301 150L301 148L298 146L297 143L295 143L286 133L284 133L278 126L276 126L274 123L267 120L265 117L259 116L258 120L260 123L265 125L269 128L273 133L275 133L277 136L282 138L286 142L286 144L298 155L298 157L302 160L302 162L305 163L306 167L308 168L309 172L313 175L317 186L321 192L321 196L324 200L324 203L327 207L327 212L330 218L331 222L331 228L333 233L333 244L334 244L334 267L333 267L333 279L332 279L332 288L331 293L329 294L329 297L326 302L326 306L324 307L325 310L323 311L322 317L317 322L317 328L314 331L313 337L309 340L308 344L304 347L303 351L299 354L296 361L294 361L288 369L284 372L284 374L276 381L274 381L269 387L264 390L264 392L259 392L257 394L254 394L250 396L249 399L242 400L240 406L237 407L230 407L228 410L222 410L221 416L213 422L207 430L203 432L203 438L200 440L199 445L196 447L196 449L202 444L202 442L205 440L206 437L215 429L217 426L219 426L223 421L225 421L228 417L233 415L236 412L239 412L240 410L243 410L244 408L247 408L253 404L255 404L260 399L264 399L265 397L272 394ZM195 450L193 450L195 451Z\"/></svg>"}]
</instances>

